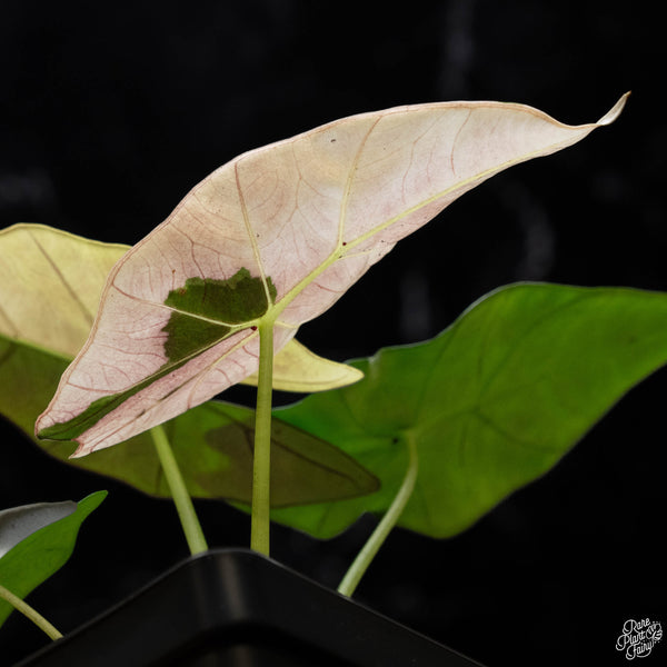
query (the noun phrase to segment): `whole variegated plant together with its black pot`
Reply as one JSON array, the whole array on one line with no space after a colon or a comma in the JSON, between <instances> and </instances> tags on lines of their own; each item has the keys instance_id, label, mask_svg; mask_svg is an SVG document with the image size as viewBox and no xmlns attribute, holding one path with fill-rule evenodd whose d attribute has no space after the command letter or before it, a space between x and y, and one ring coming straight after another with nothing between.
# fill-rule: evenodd
<instances>
[{"instance_id":1,"label":"whole variegated plant together with its black pot","mask_svg":"<svg viewBox=\"0 0 667 667\"><path fill-rule=\"evenodd\" d=\"M349 365L316 357L293 336L458 196L613 122L626 97L586 126L495 102L342 119L221 167L129 250L40 226L0 232L3 414L52 456L170 495L193 555L24 664L73 665L72 655L99 648L102 627L128 651L109 653L109 664L218 664L206 660L240 651L259 665L261 646L272 665L404 665L406 656L426 665L436 653L437 664L475 664L426 639L419 654L415 635L346 598L395 526L435 538L465 530L663 365L664 296L508 286L432 340ZM619 322L620 312L633 317ZM211 400L239 381L257 384L255 411ZM273 388L317 394L272 410ZM246 506L252 551L209 551L191 497ZM24 608L21 598L67 560L101 500L68 505L46 522L34 517L51 507L10 512L6 614L7 604ZM369 511L381 519L340 595L268 559L270 519L326 538ZM39 528L16 530L24 519ZM52 539L66 542L63 556L48 571L28 568L26 581L17 564ZM249 588L238 591L231 571ZM195 599L170 606L171 586ZM149 609L167 615L156 627L182 633L162 631L162 649L141 656ZM132 634L138 621L126 613L142 633ZM321 631L303 630L307 618ZM193 619L201 624L190 628ZM371 629L356 641L337 634L362 623ZM290 637L306 653L287 648Z\"/></svg>"}]
</instances>

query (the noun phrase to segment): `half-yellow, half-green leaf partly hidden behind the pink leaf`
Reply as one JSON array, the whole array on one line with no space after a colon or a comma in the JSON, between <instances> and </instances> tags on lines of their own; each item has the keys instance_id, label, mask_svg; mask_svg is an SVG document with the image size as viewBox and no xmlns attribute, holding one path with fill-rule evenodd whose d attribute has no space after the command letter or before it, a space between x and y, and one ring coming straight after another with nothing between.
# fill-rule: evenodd
<instances>
[{"instance_id":1,"label":"half-yellow, half-green leaf partly hidden behind the pink leaf","mask_svg":"<svg viewBox=\"0 0 667 667\"><path fill-rule=\"evenodd\" d=\"M86 339L92 317L87 320L87 315L97 308L104 267L112 266L126 250L41 226L0 231L0 414L33 439L37 416ZM81 277L78 289L74 276ZM361 377L356 369L316 357L291 342L276 359L283 366L281 386L323 388ZM191 495L250 500L252 415L245 408L211 402L167 425ZM272 436L276 506L348 498L377 489L374 476L319 438L280 421L273 425ZM72 442L37 442L64 461L72 452ZM69 462L147 494L170 495L150 434Z\"/></svg>"}]
</instances>

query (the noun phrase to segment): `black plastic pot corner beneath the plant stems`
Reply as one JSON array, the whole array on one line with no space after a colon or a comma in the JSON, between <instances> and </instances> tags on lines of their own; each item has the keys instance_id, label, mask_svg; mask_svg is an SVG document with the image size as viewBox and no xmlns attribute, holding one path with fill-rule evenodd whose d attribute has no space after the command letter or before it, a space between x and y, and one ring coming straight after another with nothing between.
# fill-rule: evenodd
<instances>
[{"instance_id":1,"label":"black plastic pot corner beneath the plant stems","mask_svg":"<svg viewBox=\"0 0 667 667\"><path fill-rule=\"evenodd\" d=\"M472 667L246 549L189 558L16 667Z\"/></svg>"}]
</instances>

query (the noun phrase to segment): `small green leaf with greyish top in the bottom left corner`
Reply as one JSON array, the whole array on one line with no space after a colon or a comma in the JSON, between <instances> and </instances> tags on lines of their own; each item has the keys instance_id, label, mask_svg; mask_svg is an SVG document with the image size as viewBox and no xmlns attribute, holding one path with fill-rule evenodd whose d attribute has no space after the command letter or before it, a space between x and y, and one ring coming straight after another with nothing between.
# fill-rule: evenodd
<instances>
[{"instance_id":1,"label":"small green leaf with greyish top in the bottom left corner","mask_svg":"<svg viewBox=\"0 0 667 667\"><path fill-rule=\"evenodd\" d=\"M97 491L71 506L40 504L4 514L0 542L6 544L7 539L13 546L0 558L0 585L23 599L57 573L72 555L81 524L106 497L107 491ZM22 522L28 526L21 526ZM21 535L24 537L17 542L14 538ZM0 625L12 610L9 603L0 600Z\"/></svg>"}]
</instances>

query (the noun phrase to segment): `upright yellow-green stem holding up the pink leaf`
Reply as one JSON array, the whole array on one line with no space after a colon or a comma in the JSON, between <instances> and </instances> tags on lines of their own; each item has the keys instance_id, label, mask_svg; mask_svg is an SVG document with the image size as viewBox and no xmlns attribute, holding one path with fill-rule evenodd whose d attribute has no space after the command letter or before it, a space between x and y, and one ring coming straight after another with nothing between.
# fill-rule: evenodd
<instances>
[{"instance_id":1,"label":"upright yellow-green stem holding up the pink leaf","mask_svg":"<svg viewBox=\"0 0 667 667\"><path fill-rule=\"evenodd\" d=\"M250 548L269 555L271 472L271 390L273 386L273 321L259 322L259 370L252 459Z\"/></svg>"}]
</instances>

